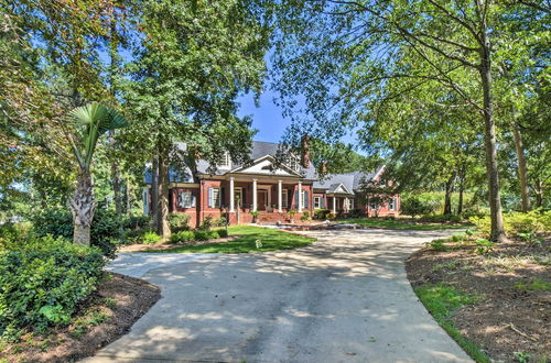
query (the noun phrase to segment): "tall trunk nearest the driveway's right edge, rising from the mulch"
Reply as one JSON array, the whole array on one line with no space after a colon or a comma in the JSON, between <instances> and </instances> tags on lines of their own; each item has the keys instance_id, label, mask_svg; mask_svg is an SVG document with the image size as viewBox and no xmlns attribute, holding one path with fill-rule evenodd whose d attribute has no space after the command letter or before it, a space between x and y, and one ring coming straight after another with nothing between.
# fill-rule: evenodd
<instances>
[{"instance_id":1,"label":"tall trunk nearest the driveway's right edge, rising from the mulch","mask_svg":"<svg viewBox=\"0 0 551 363\"><path fill-rule=\"evenodd\" d=\"M480 78L484 95L484 144L486 151L486 173L488 174L489 212L491 231L489 239L495 242L506 240L501 198L499 195L499 176L497 167L496 127L494 122L494 99L491 94L490 44L486 34L486 25L482 32L484 46L480 52Z\"/></svg>"}]
</instances>

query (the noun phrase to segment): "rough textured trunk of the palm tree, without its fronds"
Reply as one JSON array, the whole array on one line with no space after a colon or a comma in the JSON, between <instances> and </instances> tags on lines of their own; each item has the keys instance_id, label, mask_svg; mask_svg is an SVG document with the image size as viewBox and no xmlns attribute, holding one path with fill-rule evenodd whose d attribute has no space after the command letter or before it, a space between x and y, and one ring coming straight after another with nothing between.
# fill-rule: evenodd
<instances>
[{"instance_id":1,"label":"rough textured trunk of the palm tree, without its fronds","mask_svg":"<svg viewBox=\"0 0 551 363\"><path fill-rule=\"evenodd\" d=\"M90 245L90 227L94 219L94 183L88 170L80 168L76 188L69 201L73 213L73 242Z\"/></svg>"}]
</instances>

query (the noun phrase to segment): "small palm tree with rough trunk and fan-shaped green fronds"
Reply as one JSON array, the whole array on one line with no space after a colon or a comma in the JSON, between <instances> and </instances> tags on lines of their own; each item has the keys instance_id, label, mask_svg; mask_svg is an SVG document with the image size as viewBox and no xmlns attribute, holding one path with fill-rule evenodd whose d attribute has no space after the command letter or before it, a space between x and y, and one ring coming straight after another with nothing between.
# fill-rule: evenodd
<instances>
[{"instance_id":1,"label":"small palm tree with rough trunk and fan-shaped green fronds","mask_svg":"<svg viewBox=\"0 0 551 363\"><path fill-rule=\"evenodd\" d=\"M77 160L78 174L73 198L73 242L90 244L90 226L96 202L90 167L98 139L106 132L125 128L128 121L115 109L100 103L77 107L68 113L74 132L69 133L73 153Z\"/></svg>"}]
</instances>

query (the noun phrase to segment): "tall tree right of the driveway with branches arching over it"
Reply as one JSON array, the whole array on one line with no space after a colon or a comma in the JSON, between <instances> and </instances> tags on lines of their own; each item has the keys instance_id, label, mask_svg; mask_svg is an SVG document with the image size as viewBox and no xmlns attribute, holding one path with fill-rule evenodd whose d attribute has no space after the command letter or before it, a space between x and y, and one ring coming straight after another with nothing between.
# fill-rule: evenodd
<instances>
[{"instance_id":1,"label":"tall tree right of the driveway with branches arching over it","mask_svg":"<svg viewBox=\"0 0 551 363\"><path fill-rule=\"evenodd\" d=\"M303 96L295 119L326 138L357 122L369 124L372 99L392 97L386 85L435 82L479 114L484 135L494 241L505 240L495 120L495 50L501 20L525 16L523 4L489 0L292 1L280 7L274 64L288 110ZM508 34L511 35L511 34ZM514 34L512 34L514 35ZM310 122L309 122L310 121ZM314 122L312 122L314 121Z\"/></svg>"}]
</instances>

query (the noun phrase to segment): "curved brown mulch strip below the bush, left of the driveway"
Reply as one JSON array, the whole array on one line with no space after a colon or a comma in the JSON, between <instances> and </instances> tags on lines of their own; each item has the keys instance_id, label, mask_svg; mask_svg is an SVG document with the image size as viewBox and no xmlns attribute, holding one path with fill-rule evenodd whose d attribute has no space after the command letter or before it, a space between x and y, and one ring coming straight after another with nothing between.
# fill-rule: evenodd
<instances>
[{"instance_id":1,"label":"curved brown mulch strip below the bush, left of the driveway","mask_svg":"<svg viewBox=\"0 0 551 363\"><path fill-rule=\"evenodd\" d=\"M47 336L23 336L21 341L0 348L0 362L72 362L94 355L99 349L130 331L130 327L160 298L159 287L145 280L111 274L93 296L84 301L68 327ZM107 316L99 324L78 326L87 317Z\"/></svg>"}]
</instances>

